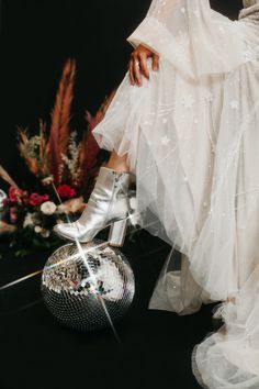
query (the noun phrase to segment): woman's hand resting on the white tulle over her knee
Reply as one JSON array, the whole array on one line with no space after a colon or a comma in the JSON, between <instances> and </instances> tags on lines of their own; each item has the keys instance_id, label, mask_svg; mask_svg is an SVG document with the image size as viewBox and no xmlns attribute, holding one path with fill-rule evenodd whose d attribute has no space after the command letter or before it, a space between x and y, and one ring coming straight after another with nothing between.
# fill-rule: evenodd
<instances>
[{"instance_id":1,"label":"woman's hand resting on the white tulle over her knee","mask_svg":"<svg viewBox=\"0 0 259 389\"><path fill-rule=\"evenodd\" d=\"M137 46L137 48L132 53L128 62L128 73L132 85L137 85L140 87L143 76L149 79L147 58L153 59L153 70L158 70L159 55L155 54L144 45Z\"/></svg>"}]
</instances>

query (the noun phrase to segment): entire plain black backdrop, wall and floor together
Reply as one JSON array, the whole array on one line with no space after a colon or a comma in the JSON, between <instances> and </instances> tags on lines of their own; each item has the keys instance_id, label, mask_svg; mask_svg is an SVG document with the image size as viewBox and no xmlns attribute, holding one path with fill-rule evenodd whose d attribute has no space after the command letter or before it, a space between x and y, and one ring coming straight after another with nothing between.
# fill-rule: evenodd
<instances>
[{"instance_id":1,"label":"entire plain black backdrop, wall and floor together","mask_svg":"<svg viewBox=\"0 0 259 389\"><path fill-rule=\"evenodd\" d=\"M16 125L35 132L38 118L48 118L63 65L75 57L71 123L83 130L86 108L94 112L124 77L132 51L126 37L149 3L2 0L0 164L18 182L22 177ZM241 1L215 0L212 5L234 19ZM128 315L116 326L121 344L110 330L80 334L57 324L43 304L38 277L0 292L0 389L199 388L191 353L215 330L212 307L189 316L148 310L169 246L142 231L123 252L133 266L137 291ZM46 257L38 253L15 259L7 249L0 260L0 285L41 269Z\"/></svg>"}]
</instances>

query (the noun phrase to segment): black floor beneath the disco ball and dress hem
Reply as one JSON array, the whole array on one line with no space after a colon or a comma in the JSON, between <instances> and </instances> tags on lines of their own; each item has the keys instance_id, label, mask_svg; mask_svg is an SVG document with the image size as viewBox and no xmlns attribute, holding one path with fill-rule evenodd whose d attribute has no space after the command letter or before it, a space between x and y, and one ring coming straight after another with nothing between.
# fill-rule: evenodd
<instances>
[{"instance_id":1,"label":"black floor beneath the disco ball and dress hem","mask_svg":"<svg viewBox=\"0 0 259 389\"><path fill-rule=\"evenodd\" d=\"M130 312L110 329L77 333L49 314L41 276L0 291L0 388L199 388L191 370L194 345L213 330L212 305L190 316L148 310L169 246L142 231L124 254L136 278ZM0 286L42 269L46 253L16 259L0 245Z\"/></svg>"}]
</instances>

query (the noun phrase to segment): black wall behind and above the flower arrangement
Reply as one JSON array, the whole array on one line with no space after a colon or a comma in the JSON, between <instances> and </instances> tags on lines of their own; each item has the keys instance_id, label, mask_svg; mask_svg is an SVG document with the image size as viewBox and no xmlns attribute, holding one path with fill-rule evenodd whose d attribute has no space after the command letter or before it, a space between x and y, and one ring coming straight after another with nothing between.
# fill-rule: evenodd
<instances>
[{"instance_id":1,"label":"black wall behind and above the flower arrangement","mask_svg":"<svg viewBox=\"0 0 259 389\"><path fill-rule=\"evenodd\" d=\"M173 1L173 0L172 0ZM0 164L19 179L16 125L37 129L52 109L67 57L77 59L72 126L120 84L132 51L126 37L150 0L2 0L0 30ZM212 7L235 18L238 0ZM1 187L1 182L0 182Z\"/></svg>"}]
</instances>

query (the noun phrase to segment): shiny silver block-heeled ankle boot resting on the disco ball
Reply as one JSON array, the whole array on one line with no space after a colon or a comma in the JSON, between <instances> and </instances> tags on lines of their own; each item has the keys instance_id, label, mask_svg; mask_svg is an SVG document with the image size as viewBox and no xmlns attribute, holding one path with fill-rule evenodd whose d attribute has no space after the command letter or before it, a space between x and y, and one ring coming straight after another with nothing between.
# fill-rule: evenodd
<instances>
[{"instance_id":1,"label":"shiny silver block-heeled ankle boot resting on the disco ball","mask_svg":"<svg viewBox=\"0 0 259 389\"><path fill-rule=\"evenodd\" d=\"M123 246L128 222L136 223L127 196L130 173L101 167L87 208L74 223L54 227L57 235L79 242L90 242L103 229L111 225L109 243ZM134 222L133 222L134 221Z\"/></svg>"}]
</instances>

